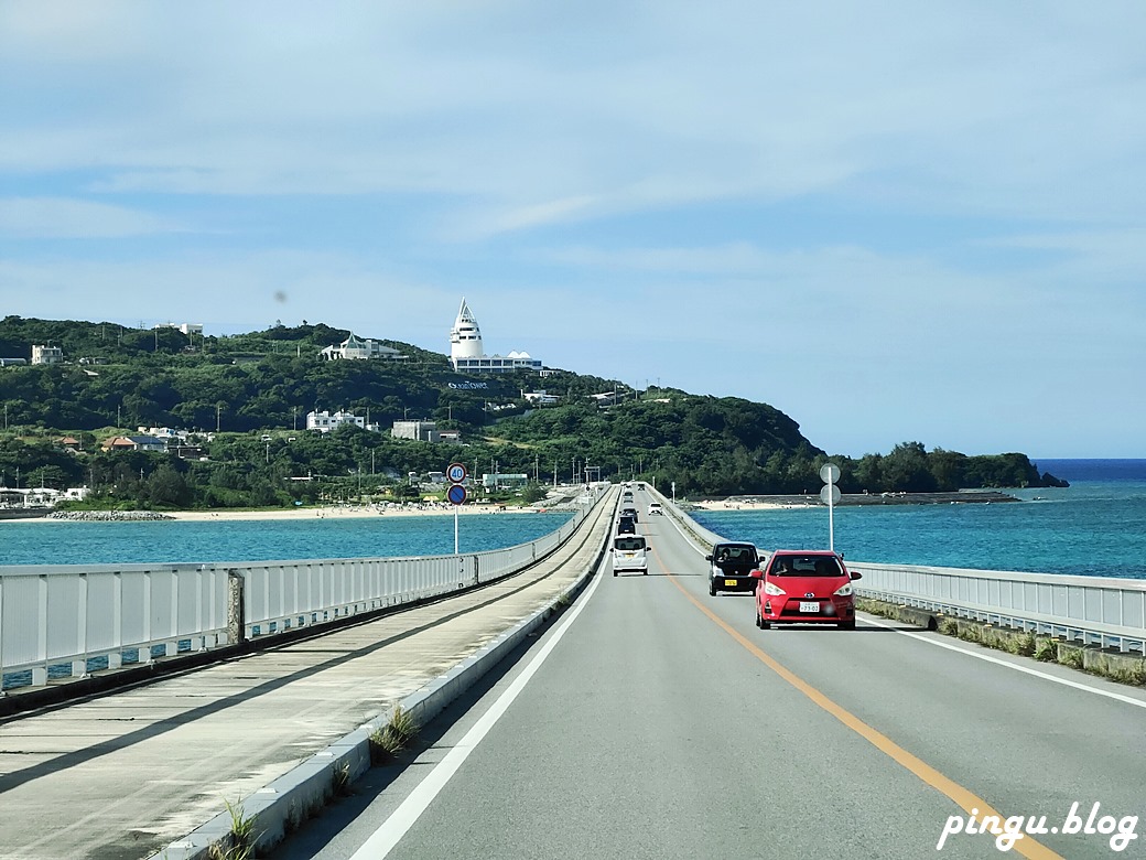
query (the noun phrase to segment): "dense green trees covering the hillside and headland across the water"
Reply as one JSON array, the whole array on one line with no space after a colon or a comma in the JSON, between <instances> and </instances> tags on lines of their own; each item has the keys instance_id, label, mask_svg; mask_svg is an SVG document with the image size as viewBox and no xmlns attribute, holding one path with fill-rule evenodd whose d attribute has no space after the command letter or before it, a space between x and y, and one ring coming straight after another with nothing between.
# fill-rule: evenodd
<instances>
[{"instance_id":1,"label":"dense green trees covering the hillside and headland across the water","mask_svg":"<svg viewBox=\"0 0 1146 860\"><path fill-rule=\"evenodd\" d=\"M465 376L445 355L394 341L383 343L407 357L401 362L317 359L348 334L276 325L188 337L175 329L9 316L0 321L0 358L26 358L33 343L53 344L63 347L65 363L0 368L0 486L87 484L102 506L284 506L416 495L408 472L461 460L478 475L525 472L541 484L588 475L639 477L661 488L675 482L678 497L814 493L829 460L791 417L739 398L637 393L563 370L545 378ZM560 394L560 405L531 408L523 392L535 388ZM614 391L613 405L590 398ZM346 409L383 432L306 432L300 428L314 409ZM392 438L391 422L406 417L458 430L465 444ZM190 441L202 451L193 458L101 451L107 438L140 427L193 431ZM65 433L79 439L78 452L61 445ZM843 492L1038 486L1049 478L1023 454L965 456L920 443L831 460L841 467ZM533 488L527 498L536 495Z\"/></svg>"}]
</instances>

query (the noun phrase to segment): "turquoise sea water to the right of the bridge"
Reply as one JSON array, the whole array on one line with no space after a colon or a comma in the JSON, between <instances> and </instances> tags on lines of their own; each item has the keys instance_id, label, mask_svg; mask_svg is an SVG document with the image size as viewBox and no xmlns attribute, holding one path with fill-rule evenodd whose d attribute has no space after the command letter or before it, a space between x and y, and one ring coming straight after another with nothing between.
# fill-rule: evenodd
<instances>
[{"instance_id":1,"label":"turquoise sea water to the right of the bridge","mask_svg":"<svg viewBox=\"0 0 1146 860\"><path fill-rule=\"evenodd\" d=\"M862 562L1146 579L1146 460L1039 460L1065 488L992 505L845 507L834 545ZM827 547L826 508L698 511L705 527L764 549Z\"/></svg>"}]
</instances>

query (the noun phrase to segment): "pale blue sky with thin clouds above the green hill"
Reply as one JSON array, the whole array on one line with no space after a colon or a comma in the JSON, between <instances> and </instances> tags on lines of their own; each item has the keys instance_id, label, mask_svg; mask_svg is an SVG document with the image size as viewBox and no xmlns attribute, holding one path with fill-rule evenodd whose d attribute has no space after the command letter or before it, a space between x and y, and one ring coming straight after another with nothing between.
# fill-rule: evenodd
<instances>
[{"instance_id":1,"label":"pale blue sky with thin clouds above the green hill","mask_svg":"<svg viewBox=\"0 0 1146 860\"><path fill-rule=\"evenodd\" d=\"M795 8L799 6L799 8ZM0 316L325 322L1146 456L1140 2L0 5Z\"/></svg>"}]
</instances>

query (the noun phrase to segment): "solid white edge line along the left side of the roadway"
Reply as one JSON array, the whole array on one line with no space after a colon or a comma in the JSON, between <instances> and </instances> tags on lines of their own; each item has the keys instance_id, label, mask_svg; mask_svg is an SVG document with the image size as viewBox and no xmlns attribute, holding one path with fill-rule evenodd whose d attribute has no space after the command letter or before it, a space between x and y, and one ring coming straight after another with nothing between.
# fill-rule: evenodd
<instances>
[{"instance_id":1,"label":"solid white edge line along the left side of the roadway","mask_svg":"<svg viewBox=\"0 0 1146 860\"><path fill-rule=\"evenodd\" d=\"M489 710L481 714L478 721L465 733L465 736L458 741L457 745L447 752L442 760L418 783L417 788L399 804L390 818L382 822L382 826L377 830L370 834L369 838L362 843L362 846L351 855L351 860L380 860L380 858L386 857L393 851L394 846L414 826L414 822L418 820L426 807L438 797L438 793L446 788L446 783L457 773L462 763L469 758L470 753L477 749L489 729L496 725L502 714L513 704L513 699L517 698L518 694L525 689L525 685L529 682L529 679L541 669L541 664L545 662L545 658L560 641L562 636L565 635L570 625L581 615L581 610L586 608L586 604L588 604L589 599L597 591L597 586L601 585L601 580L603 579L601 570L597 570L594 576L592 585L589 586L589 591L586 592L583 600L578 601L578 604L570 612L568 617L562 621L562 625L554 631L549 641L529 660L529 665L521 671L521 674L513 679L513 682L505 688L505 691L497 697L497 701L490 705Z\"/></svg>"}]
</instances>

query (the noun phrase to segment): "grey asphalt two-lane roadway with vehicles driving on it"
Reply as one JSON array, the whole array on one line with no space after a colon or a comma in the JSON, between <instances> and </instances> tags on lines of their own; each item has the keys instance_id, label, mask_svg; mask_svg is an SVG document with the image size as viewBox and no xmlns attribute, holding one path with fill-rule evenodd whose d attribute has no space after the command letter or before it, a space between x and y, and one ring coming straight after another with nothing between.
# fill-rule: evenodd
<instances>
[{"instance_id":1,"label":"grey asphalt two-lane roadway with vehicles driving on it","mask_svg":"<svg viewBox=\"0 0 1146 860\"><path fill-rule=\"evenodd\" d=\"M638 531L649 576L597 577L353 820L312 822L276 860L997 858L989 836L936 845L972 810L1050 830L1075 803L1146 855L1141 689L877 619L759 631L751 597L707 595L668 517ZM1011 855L1118 855L1109 839Z\"/></svg>"}]
</instances>

